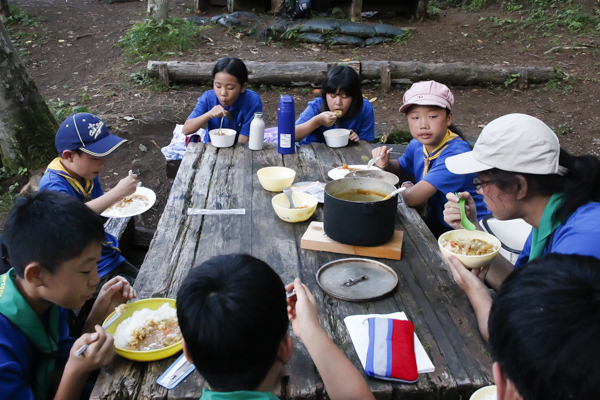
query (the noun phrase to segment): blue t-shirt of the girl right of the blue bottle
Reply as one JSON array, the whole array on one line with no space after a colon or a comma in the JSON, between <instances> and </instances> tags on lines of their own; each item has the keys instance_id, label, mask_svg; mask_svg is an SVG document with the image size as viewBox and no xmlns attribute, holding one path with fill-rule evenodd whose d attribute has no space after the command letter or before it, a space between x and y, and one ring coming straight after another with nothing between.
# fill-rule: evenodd
<instances>
[{"instance_id":1,"label":"blue t-shirt of the girl right of the blue bottle","mask_svg":"<svg viewBox=\"0 0 600 400\"><path fill-rule=\"evenodd\" d=\"M308 103L306 110L300 114L296 125L303 124L310 121L311 118L321 114L323 112L323 98L317 97L313 101ZM302 139L301 144L310 144L313 142L324 143L325 137L323 132L329 129L352 129L361 140L367 140L369 142L375 140L375 114L373 112L373 106L368 100L363 99L363 107L358 115L350 120L342 120L336 122L331 126L320 126L312 131L307 137Z\"/></svg>"}]
</instances>

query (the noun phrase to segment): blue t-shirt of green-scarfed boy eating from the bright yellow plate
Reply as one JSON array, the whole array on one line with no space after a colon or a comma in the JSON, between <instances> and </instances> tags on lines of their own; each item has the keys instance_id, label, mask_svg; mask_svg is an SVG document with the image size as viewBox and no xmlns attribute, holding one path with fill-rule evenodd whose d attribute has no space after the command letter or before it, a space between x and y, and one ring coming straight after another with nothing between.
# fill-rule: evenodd
<instances>
[{"instance_id":1,"label":"blue t-shirt of green-scarfed boy eating from the bright yellow plate","mask_svg":"<svg viewBox=\"0 0 600 400\"><path fill-rule=\"evenodd\" d=\"M58 358L55 369L62 368L73 346L67 324L68 311L58 310ZM33 400L31 382L35 381L41 353L29 338L0 314L0 400Z\"/></svg>"}]
</instances>

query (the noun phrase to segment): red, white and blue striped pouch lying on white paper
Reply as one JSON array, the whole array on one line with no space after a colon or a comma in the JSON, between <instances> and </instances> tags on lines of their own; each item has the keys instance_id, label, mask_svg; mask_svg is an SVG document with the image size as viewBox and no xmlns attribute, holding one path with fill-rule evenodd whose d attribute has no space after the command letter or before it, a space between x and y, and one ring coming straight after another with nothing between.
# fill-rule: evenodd
<instances>
[{"instance_id":1,"label":"red, white and blue striped pouch lying on white paper","mask_svg":"<svg viewBox=\"0 0 600 400\"><path fill-rule=\"evenodd\" d=\"M415 326L410 321L369 318L369 347L365 373L387 381L415 383Z\"/></svg>"}]
</instances>

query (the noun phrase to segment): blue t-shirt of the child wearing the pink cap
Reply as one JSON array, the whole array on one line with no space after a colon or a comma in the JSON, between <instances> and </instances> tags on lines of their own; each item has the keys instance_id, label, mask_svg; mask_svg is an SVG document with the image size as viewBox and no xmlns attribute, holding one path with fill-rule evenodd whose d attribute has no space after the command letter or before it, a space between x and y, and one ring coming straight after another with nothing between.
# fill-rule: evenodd
<instances>
[{"instance_id":1,"label":"blue t-shirt of the child wearing the pink cap","mask_svg":"<svg viewBox=\"0 0 600 400\"><path fill-rule=\"evenodd\" d=\"M424 218L427 225L434 232L441 233L452 229L444 221L444 204L448 201L446 194L450 192L471 193L471 197L473 197L477 205L478 220L490 213L483 202L483 196L478 194L475 186L473 186L473 178L477 177L477 174L457 175L446 168L446 158L468 151L471 151L471 149L464 140L460 138L451 140L448 142L448 147L442 151L440 156L431 161L429 171L424 178L425 158L423 156L423 144L417 139L410 141L404 155L398 159L400 169L409 175L413 175L417 182L425 180L437 189L437 192L427 201L427 215Z\"/></svg>"}]
</instances>

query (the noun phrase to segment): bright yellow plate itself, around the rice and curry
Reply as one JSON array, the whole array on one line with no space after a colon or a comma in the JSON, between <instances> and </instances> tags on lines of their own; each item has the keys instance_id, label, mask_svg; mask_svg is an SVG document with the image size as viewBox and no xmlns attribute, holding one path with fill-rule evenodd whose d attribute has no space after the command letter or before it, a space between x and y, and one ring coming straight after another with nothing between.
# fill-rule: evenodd
<instances>
[{"instance_id":1,"label":"bright yellow plate itself, around the rice and curry","mask_svg":"<svg viewBox=\"0 0 600 400\"><path fill-rule=\"evenodd\" d=\"M151 310L158 310L165 303L168 303L169 306L175 308L175 300L174 299L144 299L144 300L138 300L138 301L132 302L131 304L128 304L127 309L117 319L117 321L108 327L106 332L110 333L111 335L114 335L119 324L121 322L123 322L124 320L126 320L127 318L131 317L133 315L134 311L138 311L143 308L149 308ZM114 313L115 312L113 311L108 317L106 317L106 320L108 320L110 317L112 317ZM106 322L106 320L104 322ZM157 350L150 350L150 351L128 350L128 349L124 349L122 347L115 346L115 351L121 357L125 357L125 358L128 358L133 361L156 361L156 360L162 360L163 358L170 357L173 354L180 351L181 343L182 343L182 341L179 341L168 347L165 347L162 349L157 349Z\"/></svg>"}]
</instances>

